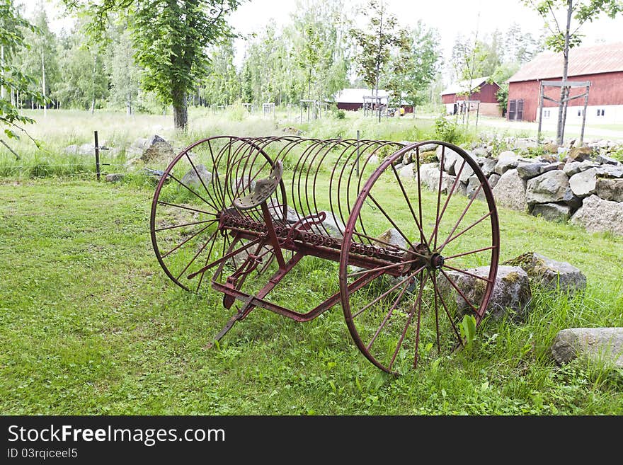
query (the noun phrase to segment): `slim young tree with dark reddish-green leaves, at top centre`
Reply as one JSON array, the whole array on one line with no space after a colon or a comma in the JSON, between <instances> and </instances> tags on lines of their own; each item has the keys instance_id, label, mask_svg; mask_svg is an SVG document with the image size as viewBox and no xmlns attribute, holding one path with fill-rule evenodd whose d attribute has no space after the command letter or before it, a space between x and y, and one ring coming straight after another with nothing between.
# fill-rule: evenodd
<instances>
[{"instance_id":1,"label":"slim young tree with dark reddish-green leaves, at top centre","mask_svg":"<svg viewBox=\"0 0 623 465\"><path fill-rule=\"evenodd\" d=\"M398 27L396 16L387 11L383 0L370 0L363 12L368 18L365 30L352 29L350 34L358 46L357 62L365 84L379 95L379 79L394 47L407 47L408 33ZM380 117L380 113L379 113Z\"/></svg>"}]
</instances>

